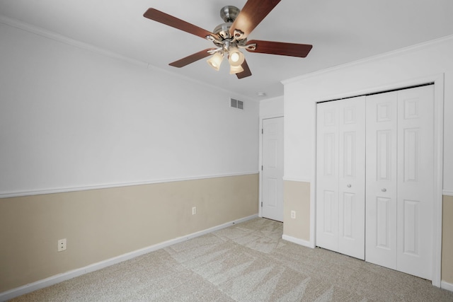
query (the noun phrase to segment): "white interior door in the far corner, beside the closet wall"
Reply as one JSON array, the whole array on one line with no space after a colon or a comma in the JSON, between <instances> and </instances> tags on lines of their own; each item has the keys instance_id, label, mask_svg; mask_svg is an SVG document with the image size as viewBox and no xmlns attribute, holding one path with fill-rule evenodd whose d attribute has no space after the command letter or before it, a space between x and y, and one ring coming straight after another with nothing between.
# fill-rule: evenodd
<instances>
[{"instance_id":1,"label":"white interior door in the far corner, beside the closet wall","mask_svg":"<svg viewBox=\"0 0 453 302\"><path fill-rule=\"evenodd\" d=\"M261 215L283 221L283 117L263 120Z\"/></svg>"}]
</instances>

